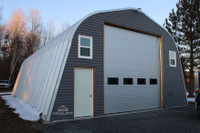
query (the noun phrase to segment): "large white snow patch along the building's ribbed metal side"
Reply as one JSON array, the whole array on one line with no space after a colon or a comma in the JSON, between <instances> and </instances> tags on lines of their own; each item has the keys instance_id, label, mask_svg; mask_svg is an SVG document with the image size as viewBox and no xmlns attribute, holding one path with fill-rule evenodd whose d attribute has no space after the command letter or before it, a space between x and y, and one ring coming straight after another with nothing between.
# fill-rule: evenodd
<instances>
[{"instance_id":1,"label":"large white snow patch along the building's ribbed metal side","mask_svg":"<svg viewBox=\"0 0 200 133\"><path fill-rule=\"evenodd\" d=\"M29 121L38 121L40 119L40 112L34 109L31 105L26 104L12 95L4 95L2 98L6 101L6 105L15 109L13 112L19 114L20 118Z\"/></svg>"}]
</instances>

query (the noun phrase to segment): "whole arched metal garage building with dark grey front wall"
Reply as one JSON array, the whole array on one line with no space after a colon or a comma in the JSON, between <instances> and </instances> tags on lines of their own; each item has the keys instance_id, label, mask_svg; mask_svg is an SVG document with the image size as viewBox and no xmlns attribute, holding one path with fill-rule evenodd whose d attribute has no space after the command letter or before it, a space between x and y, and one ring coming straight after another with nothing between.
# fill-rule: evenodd
<instances>
[{"instance_id":1,"label":"whole arched metal garage building with dark grey front wall","mask_svg":"<svg viewBox=\"0 0 200 133\"><path fill-rule=\"evenodd\" d=\"M45 121L187 105L173 39L133 8L68 28L23 62L12 94Z\"/></svg>"}]
</instances>

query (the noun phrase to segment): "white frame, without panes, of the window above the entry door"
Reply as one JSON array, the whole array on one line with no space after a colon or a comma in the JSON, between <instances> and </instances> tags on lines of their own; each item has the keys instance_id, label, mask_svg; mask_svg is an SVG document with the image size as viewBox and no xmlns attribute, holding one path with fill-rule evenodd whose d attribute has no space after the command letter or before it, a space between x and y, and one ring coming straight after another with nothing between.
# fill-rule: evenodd
<instances>
[{"instance_id":1,"label":"white frame, without panes, of the window above the entry door","mask_svg":"<svg viewBox=\"0 0 200 133\"><path fill-rule=\"evenodd\" d=\"M90 47L80 45L81 37L90 39ZM90 48L90 56L82 56L81 48ZM93 38L91 36L78 35L78 58L83 58L83 59L93 58Z\"/></svg>"}]
</instances>

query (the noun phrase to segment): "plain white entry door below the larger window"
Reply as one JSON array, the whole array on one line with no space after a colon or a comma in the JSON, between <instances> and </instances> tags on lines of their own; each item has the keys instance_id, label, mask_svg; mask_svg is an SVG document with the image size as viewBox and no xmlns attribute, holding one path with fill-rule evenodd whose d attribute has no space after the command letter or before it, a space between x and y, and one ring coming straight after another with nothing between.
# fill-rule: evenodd
<instances>
[{"instance_id":1,"label":"plain white entry door below the larger window","mask_svg":"<svg viewBox=\"0 0 200 133\"><path fill-rule=\"evenodd\" d=\"M75 68L74 117L93 116L93 69Z\"/></svg>"}]
</instances>

